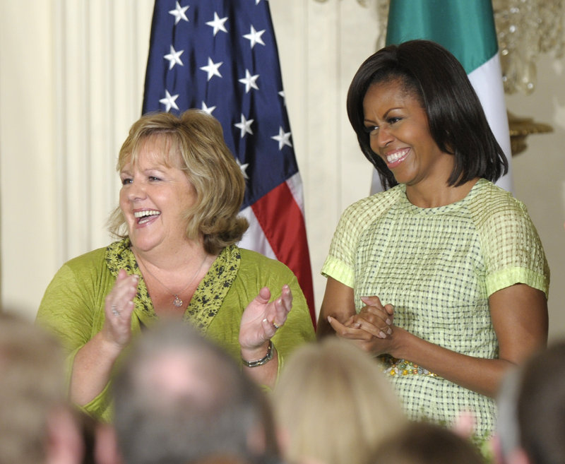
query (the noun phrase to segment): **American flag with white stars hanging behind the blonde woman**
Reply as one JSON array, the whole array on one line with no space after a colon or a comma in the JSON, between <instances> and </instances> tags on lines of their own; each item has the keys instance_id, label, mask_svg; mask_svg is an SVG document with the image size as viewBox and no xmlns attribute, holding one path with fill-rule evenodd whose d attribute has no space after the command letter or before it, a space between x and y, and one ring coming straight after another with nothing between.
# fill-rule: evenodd
<instances>
[{"instance_id":1,"label":"American flag with white stars hanging behind the blonde woman","mask_svg":"<svg viewBox=\"0 0 565 464\"><path fill-rule=\"evenodd\" d=\"M155 1L143 113L189 108L220 121L246 179L250 227L239 246L295 273L315 323L302 181L266 0Z\"/></svg>"}]
</instances>

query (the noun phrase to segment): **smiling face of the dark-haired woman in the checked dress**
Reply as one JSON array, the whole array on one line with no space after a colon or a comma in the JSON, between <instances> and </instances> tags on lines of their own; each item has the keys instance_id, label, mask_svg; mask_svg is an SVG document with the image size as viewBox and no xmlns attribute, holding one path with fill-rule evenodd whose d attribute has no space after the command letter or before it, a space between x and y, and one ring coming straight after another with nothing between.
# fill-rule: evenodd
<instances>
[{"instance_id":1,"label":"smiling face of the dark-haired woman in the checked dress","mask_svg":"<svg viewBox=\"0 0 565 464\"><path fill-rule=\"evenodd\" d=\"M439 150L429 132L426 112L400 81L371 85L363 100L363 111L371 149L399 184L446 184L453 156Z\"/></svg>"}]
</instances>

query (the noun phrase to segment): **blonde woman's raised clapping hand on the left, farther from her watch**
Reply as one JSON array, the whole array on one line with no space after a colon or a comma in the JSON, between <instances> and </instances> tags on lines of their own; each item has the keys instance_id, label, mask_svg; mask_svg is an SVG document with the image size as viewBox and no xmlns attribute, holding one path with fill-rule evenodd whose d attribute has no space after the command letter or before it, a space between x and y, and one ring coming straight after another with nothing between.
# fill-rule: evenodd
<instances>
[{"instance_id":1,"label":"blonde woman's raised clapping hand on the left, farther from her watch","mask_svg":"<svg viewBox=\"0 0 565 464\"><path fill-rule=\"evenodd\" d=\"M120 269L112 291L106 297L104 314L106 316L101 334L121 350L131 340L131 313L133 297L137 293L138 275L128 275Z\"/></svg>"}]
</instances>

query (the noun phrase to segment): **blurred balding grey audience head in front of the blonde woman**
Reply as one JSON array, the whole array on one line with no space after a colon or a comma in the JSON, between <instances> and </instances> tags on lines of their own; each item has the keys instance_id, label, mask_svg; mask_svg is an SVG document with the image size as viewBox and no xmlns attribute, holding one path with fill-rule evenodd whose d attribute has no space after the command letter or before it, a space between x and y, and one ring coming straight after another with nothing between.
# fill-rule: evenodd
<instances>
[{"instance_id":1,"label":"blurred balding grey audience head in front of the blonde woman","mask_svg":"<svg viewBox=\"0 0 565 464\"><path fill-rule=\"evenodd\" d=\"M126 464L211 456L276 456L262 392L219 347L184 324L161 323L133 343L114 381L114 427Z\"/></svg>"}]
</instances>

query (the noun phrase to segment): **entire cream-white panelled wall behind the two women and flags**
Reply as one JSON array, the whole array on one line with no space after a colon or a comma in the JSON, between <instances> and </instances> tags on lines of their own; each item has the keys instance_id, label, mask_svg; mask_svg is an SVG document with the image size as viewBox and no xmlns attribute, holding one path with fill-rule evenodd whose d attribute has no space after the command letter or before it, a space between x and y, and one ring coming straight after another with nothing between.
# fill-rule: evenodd
<instances>
[{"instance_id":1,"label":"entire cream-white panelled wall behind the two women and flags","mask_svg":"<svg viewBox=\"0 0 565 464\"><path fill-rule=\"evenodd\" d=\"M369 192L371 168L345 114L353 73L375 49L376 5L271 0L290 123L304 183L316 305L341 211ZM30 318L61 264L109 242L114 163L141 112L153 0L0 2L1 303ZM553 337L565 335L563 62L544 58L540 85L509 97L552 124L513 160L552 268Z\"/></svg>"}]
</instances>

